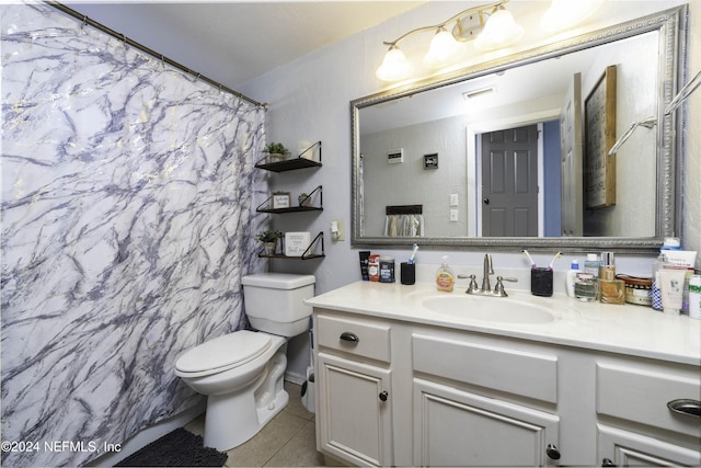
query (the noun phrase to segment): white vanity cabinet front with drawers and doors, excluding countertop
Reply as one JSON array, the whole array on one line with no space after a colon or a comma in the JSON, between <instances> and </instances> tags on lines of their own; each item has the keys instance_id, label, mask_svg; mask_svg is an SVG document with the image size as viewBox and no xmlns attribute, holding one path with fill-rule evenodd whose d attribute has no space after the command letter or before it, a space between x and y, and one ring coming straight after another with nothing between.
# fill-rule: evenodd
<instances>
[{"instance_id":1,"label":"white vanity cabinet front with drawers and doors, excluding countertop","mask_svg":"<svg viewBox=\"0 0 701 468\"><path fill-rule=\"evenodd\" d=\"M701 465L701 420L667 407L698 402L699 364L416 316L313 317L318 448L343 463Z\"/></svg>"}]
</instances>

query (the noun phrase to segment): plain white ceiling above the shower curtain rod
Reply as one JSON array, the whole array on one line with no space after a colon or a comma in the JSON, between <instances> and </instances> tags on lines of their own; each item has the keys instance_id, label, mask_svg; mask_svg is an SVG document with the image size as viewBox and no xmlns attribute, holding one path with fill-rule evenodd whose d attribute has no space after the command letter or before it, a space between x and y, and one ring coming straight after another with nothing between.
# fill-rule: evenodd
<instances>
[{"instance_id":1,"label":"plain white ceiling above the shower curtain rod","mask_svg":"<svg viewBox=\"0 0 701 468\"><path fill-rule=\"evenodd\" d=\"M425 1L70 2L67 7L237 90Z\"/></svg>"}]
</instances>

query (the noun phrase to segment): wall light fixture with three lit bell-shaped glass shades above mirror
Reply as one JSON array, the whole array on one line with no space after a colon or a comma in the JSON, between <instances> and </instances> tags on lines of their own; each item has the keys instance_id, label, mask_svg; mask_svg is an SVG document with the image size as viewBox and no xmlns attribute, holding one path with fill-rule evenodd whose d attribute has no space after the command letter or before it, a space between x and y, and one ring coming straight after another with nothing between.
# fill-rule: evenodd
<instances>
[{"instance_id":1,"label":"wall light fixture with three lit bell-shaped glass shades above mirror","mask_svg":"<svg viewBox=\"0 0 701 468\"><path fill-rule=\"evenodd\" d=\"M514 16L504 7L508 1L501 0L473 7L440 24L417 27L395 41L383 42L389 50L384 55L382 65L377 69L377 77L382 81L399 81L409 78L412 67L400 50L399 43L416 33L427 31L436 33L424 58L424 65L429 68L444 67L453 61L462 50L459 42L476 37L475 46L482 50L492 50L516 43L524 34L524 28L516 24ZM487 16L486 20L485 16ZM452 23L455 26L448 32L446 26Z\"/></svg>"}]
</instances>

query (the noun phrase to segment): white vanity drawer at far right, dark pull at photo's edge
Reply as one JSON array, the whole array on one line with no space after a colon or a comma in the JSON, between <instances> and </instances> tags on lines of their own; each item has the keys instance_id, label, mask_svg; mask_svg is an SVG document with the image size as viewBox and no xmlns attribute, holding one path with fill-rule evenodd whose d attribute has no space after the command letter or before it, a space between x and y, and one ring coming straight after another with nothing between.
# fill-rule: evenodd
<instances>
[{"instance_id":1,"label":"white vanity drawer at far right, dark pull at photo's edge","mask_svg":"<svg viewBox=\"0 0 701 468\"><path fill-rule=\"evenodd\" d=\"M701 418L678 414L667 407L670 401L701 398L698 368L671 374L662 366L597 362L596 396L599 414L701 436Z\"/></svg>"}]
</instances>

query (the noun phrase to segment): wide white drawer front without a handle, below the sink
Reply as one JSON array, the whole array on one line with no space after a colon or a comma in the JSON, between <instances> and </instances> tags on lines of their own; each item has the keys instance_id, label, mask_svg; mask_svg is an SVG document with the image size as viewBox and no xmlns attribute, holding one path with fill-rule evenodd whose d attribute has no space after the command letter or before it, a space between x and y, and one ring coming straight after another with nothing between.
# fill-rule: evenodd
<instances>
[{"instance_id":1,"label":"wide white drawer front without a handle, below the sink","mask_svg":"<svg viewBox=\"0 0 701 468\"><path fill-rule=\"evenodd\" d=\"M414 370L494 390L558 402L558 356L414 334Z\"/></svg>"}]
</instances>

